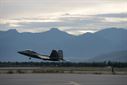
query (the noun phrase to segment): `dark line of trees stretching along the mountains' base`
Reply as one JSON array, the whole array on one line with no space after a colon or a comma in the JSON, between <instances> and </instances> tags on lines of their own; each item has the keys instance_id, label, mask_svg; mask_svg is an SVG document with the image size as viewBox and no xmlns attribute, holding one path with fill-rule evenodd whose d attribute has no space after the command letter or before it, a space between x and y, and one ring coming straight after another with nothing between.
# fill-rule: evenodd
<instances>
[{"instance_id":1,"label":"dark line of trees stretching along the mountains' base","mask_svg":"<svg viewBox=\"0 0 127 85\"><path fill-rule=\"evenodd\" d=\"M127 62L0 62L0 67L127 67Z\"/></svg>"}]
</instances>

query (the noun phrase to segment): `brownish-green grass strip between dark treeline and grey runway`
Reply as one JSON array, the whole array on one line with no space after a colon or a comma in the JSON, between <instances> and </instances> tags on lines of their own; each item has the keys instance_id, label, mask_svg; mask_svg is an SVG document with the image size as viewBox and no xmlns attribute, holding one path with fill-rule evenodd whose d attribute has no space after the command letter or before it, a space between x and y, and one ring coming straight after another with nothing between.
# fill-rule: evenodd
<instances>
[{"instance_id":1,"label":"brownish-green grass strip between dark treeline and grey runway","mask_svg":"<svg viewBox=\"0 0 127 85\"><path fill-rule=\"evenodd\" d=\"M0 74L23 73L73 73L73 74L121 74L127 75L127 68L111 67L0 67Z\"/></svg>"}]
</instances>

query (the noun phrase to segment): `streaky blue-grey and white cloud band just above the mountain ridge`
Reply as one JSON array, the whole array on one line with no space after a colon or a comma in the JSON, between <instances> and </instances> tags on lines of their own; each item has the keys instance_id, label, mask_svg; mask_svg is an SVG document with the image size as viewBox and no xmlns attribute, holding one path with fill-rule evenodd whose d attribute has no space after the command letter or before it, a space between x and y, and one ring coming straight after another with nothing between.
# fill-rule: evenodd
<instances>
[{"instance_id":1,"label":"streaky blue-grey and white cloud band just above the mountain ridge","mask_svg":"<svg viewBox=\"0 0 127 85\"><path fill-rule=\"evenodd\" d=\"M103 14L103 15L78 15L62 14L59 17L37 17L1 20L1 28L15 28L20 32L43 32L56 27L71 34L82 34L84 32L95 32L107 27L127 27L124 14ZM115 17L113 17L115 16Z\"/></svg>"}]
</instances>

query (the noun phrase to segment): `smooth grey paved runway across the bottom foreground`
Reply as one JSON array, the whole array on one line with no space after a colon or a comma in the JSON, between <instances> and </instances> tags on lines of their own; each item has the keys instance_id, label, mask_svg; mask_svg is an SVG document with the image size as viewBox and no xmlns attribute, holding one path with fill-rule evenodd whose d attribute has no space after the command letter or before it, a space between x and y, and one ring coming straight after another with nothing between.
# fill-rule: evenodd
<instances>
[{"instance_id":1,"label":"smooth grey paved runway across the bottom foreground","mask_svg":"<svg viewBox=\"0 0 127 85\"><path fill-rule=\"evenodd\" d=\"M127 75L0 74L0 85L127 85Z\"/></svg>"}]
</instances>

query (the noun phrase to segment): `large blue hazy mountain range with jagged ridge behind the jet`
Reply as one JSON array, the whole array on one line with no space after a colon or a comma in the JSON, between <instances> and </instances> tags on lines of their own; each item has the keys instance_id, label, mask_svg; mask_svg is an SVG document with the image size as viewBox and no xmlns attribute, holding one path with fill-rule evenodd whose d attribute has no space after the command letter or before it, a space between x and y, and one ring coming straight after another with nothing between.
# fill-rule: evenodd
<instances>
[{"instance_id":1,"label":"large blue hazy mountain range with jagged ridge behind the jet","mask_svg":"<svg viewBox=\"0 0 127 85\"><path fill-rule=\"evenodd\" d=\"M56 28L40 33L0 31L0 61L39 61L28 60L17 53L25 49L42 54L50 54L52 49L62 49L65 59L86 61L101 54L127 50L126 36L127 30L122 28L108 28L79 36L69 35Z\"/></svg>"}]
</instances>

